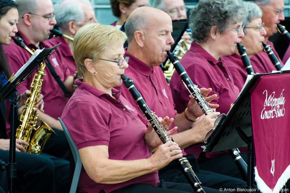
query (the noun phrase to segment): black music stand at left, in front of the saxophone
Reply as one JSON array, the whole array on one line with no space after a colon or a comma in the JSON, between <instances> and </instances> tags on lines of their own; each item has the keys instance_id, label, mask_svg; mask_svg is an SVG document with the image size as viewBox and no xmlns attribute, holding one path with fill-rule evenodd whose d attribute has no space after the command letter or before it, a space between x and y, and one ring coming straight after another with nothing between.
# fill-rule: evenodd
<instances>
[{"instance_id":1,"label":"black music stand at left, in front of the saxophone","mask_svg":"<svg viewBox=\"0 0 290 193\"><path fill-rule=\"evenodd\" d=\"M51 54L51 52L59 46L53 46L49 49L43 49L25 69L20 69L18 75L15 74L11 81L8 81L5 86L0 90L0 101L7 99L11 103L10 109L10 147L9 147L9 163L7 165L8 174L8 192L15 192L15 179L16 179L16 163L15 163L15 146L16 146L16 127L17 127L17 106L16 103L20 100L20 93L16 87L24 81L33 71L35 71Z\"/></svg>"}]
</instances>

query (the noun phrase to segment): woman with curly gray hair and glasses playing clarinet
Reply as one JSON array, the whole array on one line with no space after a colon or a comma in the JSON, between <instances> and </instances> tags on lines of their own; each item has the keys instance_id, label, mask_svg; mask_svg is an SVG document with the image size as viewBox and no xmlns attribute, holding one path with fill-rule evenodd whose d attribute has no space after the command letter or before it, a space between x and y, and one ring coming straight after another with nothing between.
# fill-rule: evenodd
<instances>
[{"instance_id":1,"label":"woman with curly gray hair and glasses playing clarinet","mask_svg":"<svg viewBox=\"0 0 290 193\"><path fill-rule=\"evenodd\" d=\"M194 84L212 88L211 94L218 97L211 103L219 104L216 110L225 114L239 95L239 89L222 56L236 52L237 43L244 36L242 24L247 15L243 2L238 0L200 0L189 17L193 42L180 63ZM170 88L175 109L183 112L190 98L177 72L172 75ZM198 157L200 169L242 178L228 151L202 152L201 146L195 144L185 149Z\"/></svg>"}]
</instances>

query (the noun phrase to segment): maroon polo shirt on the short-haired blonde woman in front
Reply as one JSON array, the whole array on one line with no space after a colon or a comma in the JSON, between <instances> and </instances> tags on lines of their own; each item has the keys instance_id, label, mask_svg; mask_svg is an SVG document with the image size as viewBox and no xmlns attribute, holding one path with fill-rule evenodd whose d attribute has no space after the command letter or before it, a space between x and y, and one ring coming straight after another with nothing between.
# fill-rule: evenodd
<instances>
[{"instance_id":1,"label":"maroon polo shirt on the short-haired blonde woman in front","mask_svg":"<svg viewBox=\"0 0 290 193\"><path fill-rule=\"evenodd\" d=\"M82 78L77 79L76 84L78 88L63 110L61 119L78 149L106 145L111 160L139 160L152 155L144 140L147 127L120 90L112 88L114 99L82 82ZM159 183L158 171L118 184L99 184L90 179L82 166L78 186L81 192L95 193L101 189L111 192L134 183L156 186Z\"/></svg>"}]
</instances>

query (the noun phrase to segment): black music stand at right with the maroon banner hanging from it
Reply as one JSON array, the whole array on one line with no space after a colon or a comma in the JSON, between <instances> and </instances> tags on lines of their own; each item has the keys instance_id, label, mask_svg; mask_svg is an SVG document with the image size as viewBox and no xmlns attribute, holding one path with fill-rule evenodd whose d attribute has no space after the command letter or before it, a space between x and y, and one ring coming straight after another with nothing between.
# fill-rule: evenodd
<instances>
[{"instance_id":1,"label":"black music stand at right with the maroon banner hanging from it","mask_svg":"<svg viewBox=\"0 0 290 193\"><path fill-rule=\"evenodd\" d=\"M279 71L268 74L254 74L243 91L238 96L234 106L222 118L208 139L203 151L217 152L238 147L248 147L247 189L253 192L254 186L254 145L251 120L251 93L250 90L256 81L263 75L284 74L290 71Z\"/></svg>"}]
</instances>

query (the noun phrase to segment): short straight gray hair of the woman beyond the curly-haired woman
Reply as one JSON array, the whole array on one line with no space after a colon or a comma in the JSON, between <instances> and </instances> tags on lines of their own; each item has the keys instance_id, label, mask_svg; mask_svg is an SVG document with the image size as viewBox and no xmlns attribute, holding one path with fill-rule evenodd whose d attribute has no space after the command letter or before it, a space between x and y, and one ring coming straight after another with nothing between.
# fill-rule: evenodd
<instances>
[{"instance_id":1,"label":"short straight gray hair of the woman beyond the curly-haired woman","mask_svg":"<svg viewBox=\"0 0 290 193\"><path fill-rule=\"evenodd\" d=\"M248 17L246 20L243 21L243 25L245 27L248 27L248 25L254 20L262 17L262 11L259 8L258 5L256 5L254 2L244 2L245 10L248 11ZM244 34L247 35L248 29L244 28L243 30Z\"/></svg>"}]
</instances>

